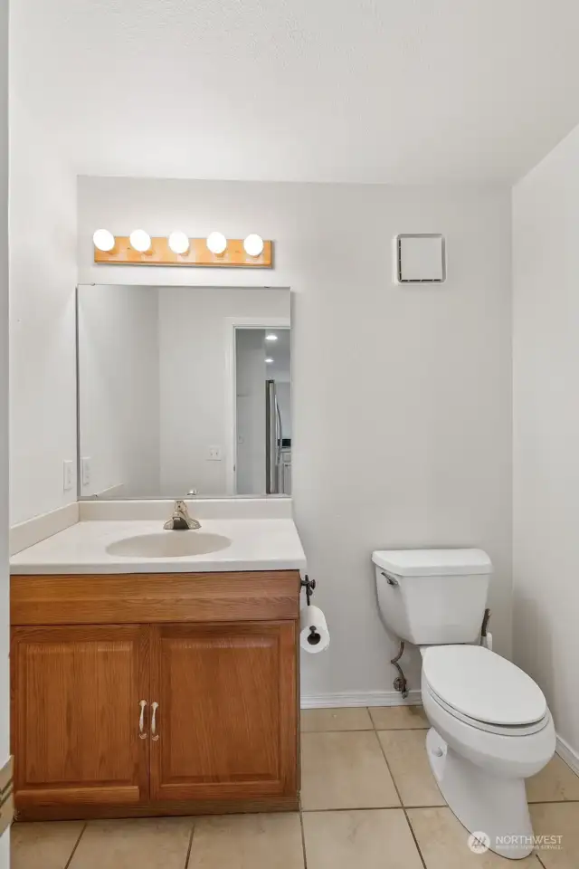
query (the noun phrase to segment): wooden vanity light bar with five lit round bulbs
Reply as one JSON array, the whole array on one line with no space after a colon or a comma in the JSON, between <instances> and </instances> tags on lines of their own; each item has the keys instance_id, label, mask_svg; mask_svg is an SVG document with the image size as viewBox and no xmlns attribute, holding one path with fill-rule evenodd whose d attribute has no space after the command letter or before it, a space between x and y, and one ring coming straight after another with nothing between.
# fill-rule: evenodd
<instances>
[{"instance_id":1,"label":"wooden vanity light bar with five lit round bulbs","mask_svg":"<svg viewBox=\"0 0 579 869\"><path fill-rule=\"evenodd\" d=\"M111 245L111 242L114 244ZM113 235L98 230L93 236L94 262L108 265L188 265L271 269L273 242L261 235L225 238L211 233L207 238L188 238L176 230L151 238L145 230Z\"/></svg>"}]
</instances>

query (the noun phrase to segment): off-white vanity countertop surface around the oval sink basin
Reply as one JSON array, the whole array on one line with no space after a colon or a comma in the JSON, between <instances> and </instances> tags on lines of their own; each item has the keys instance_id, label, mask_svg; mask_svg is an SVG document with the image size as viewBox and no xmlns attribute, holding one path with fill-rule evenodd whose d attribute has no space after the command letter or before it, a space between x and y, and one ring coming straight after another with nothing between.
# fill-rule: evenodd
<instances>
[{"instance_id":1,"label":"off-white vanity countertop surface around the oval sink basin","mask_svg":"<svg viewBox=\"0 0 579 869\"><path fill-rule=\"evenodd\" d=\"M231 540L204 555L137 558L113 555L119 540L148 534L219 534ZM202 520L200 531L163 531L158 520L84 521L23 549L14 574L206 573L226 570L305 570L306 557L290 519Z\"/></svg>"}]
</instances>

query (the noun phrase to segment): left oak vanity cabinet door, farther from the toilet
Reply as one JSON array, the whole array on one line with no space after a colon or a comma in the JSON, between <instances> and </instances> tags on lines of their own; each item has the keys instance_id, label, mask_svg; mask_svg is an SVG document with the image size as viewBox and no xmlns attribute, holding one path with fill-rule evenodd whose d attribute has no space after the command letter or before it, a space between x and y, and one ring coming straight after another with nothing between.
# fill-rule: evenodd
<instances>
[{"instance_id":1,"label":"left oak vanity cabinet door, farther from the toilet","mask_svg":"<svg viewBox=\"0 0 579 869\"><path fill-rule=\"evenodd\" d=\"M12 668L16 807L147 797L148 627L17 627Z\"/></svg>"}]
</instances>

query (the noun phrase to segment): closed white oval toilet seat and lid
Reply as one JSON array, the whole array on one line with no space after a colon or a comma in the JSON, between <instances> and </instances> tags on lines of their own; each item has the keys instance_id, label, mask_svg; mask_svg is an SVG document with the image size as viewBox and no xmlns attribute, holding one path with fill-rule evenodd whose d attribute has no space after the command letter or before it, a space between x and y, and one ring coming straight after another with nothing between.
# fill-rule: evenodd
<instances>
[{"instance_id":1,"label":"closed white oval toilet seat and lid","mask_svg":"<svg viewBox=\"0 0 579 869\"><path fill-rule=\"evenodd\" d=\"M436 702L479 730L522 736L546 725L548 710L539 686L484 646L424 649L422 677Z\"/></svg>"}]
</instances>

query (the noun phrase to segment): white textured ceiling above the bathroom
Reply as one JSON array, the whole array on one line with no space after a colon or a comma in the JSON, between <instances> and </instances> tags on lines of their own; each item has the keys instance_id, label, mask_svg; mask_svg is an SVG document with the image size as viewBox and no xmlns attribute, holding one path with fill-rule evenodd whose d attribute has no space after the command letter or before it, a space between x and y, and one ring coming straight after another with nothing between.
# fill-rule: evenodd
<instances>
[{"instance_id":1,"label":"white textured ceiling above the bathroom","mask_svg":"<svg viewBox=\"0 0 579 869\"><path fill-rule=\"evenodd\" d=\"M512 180L579 122L576 0L13 0L81 173Z\"/></svg>"}]
</instances>

